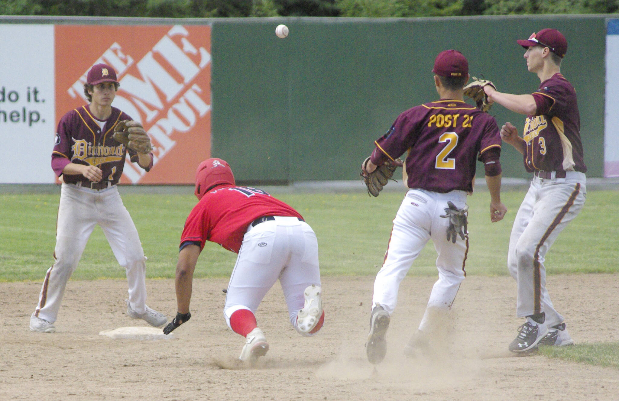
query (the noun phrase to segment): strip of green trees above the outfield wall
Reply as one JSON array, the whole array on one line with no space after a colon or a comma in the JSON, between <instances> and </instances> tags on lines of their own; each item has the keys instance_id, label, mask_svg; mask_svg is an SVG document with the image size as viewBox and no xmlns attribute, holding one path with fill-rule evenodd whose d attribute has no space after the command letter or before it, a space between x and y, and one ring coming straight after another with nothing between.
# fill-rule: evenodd
<instances>
[{"instance_id":1,"label":"strip of green trees above the outfield wall","mask_svg":"<svg viewBox=\"0 0 619 401\"><path fill-rule=\"evenodd\" d=\"M447 17L618 11L619 0L0 0L0 15L97 17Z\"/></svg>"}]
</instances>

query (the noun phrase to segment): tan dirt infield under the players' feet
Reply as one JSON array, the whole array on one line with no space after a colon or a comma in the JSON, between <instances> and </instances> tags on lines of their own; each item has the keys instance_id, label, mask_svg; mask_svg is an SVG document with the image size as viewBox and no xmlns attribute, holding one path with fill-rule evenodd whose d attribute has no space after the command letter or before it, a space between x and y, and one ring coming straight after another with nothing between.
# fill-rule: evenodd
<instances>
[{"instance_id":1,"label":"tan dirt infield under the players' feet","mask_svg":"<svg viewBox=\"0 0 619 401\"><path fill-rule=\"evenodd\" d=\"M126 316L126 281L71 281L55 334L33 333L28 318L40 283L0 283L1 400L617 400L619 371L514 357L521 324L511 277L467 278L454 303L445 350L401 356L435 277L407 277L387 333L387 357L365 358L373 277L323 278L326 322L303 338L290 326L279 284L258 323L271 350L256 369L238 369L243 338L225 325L227 280L194 282L192 319L170 340L112 340L102 330L145 326ZM172 280L149 280L149 305L172 316ZM576 343L619 340L617 275L551 276L555 306ZM232 369L231 369L232 368Z\"/></svg>"}]
</instances>

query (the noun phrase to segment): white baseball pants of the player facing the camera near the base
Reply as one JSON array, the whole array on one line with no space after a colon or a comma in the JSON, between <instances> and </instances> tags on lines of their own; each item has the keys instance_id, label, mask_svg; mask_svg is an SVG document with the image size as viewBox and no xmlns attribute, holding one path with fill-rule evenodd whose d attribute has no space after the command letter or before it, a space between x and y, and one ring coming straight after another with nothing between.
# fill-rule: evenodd
<instances>
[{"instance_id":1,"label":"white baseball pants of the player facing the camera near the base","mask_svg":"<svg viewBox=\"0 0 619 401\"><path fill-rule=\"evenodd\" d=\"M35 316L51 323L56 321L67 281L76 270L96 224L101 226L116 260L126 270L131 309L144 313L144 251L118 188L111 186L96 191L63 183L56 223L55 262L45 275Z\"/></svg>"}]
</instances>

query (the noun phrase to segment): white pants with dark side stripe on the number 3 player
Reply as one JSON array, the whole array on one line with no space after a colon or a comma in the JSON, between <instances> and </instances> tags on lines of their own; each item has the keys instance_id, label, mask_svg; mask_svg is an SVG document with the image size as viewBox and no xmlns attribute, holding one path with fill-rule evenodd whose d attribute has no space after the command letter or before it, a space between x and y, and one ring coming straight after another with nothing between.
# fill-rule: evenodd
<instances>
[{"instance_id":1,"label":"white pants with dark side stripe on the number 3 player","mask_svg":"<svg viewBox=\"0 0 619 401\"><path fill-rule=\"evenodd\" d=\"M518 283L516 314L544 312L548 327L563 322L550 301L543 265L559 233L582 210L587 195L586 177L567 171L566 178L533 178L509 237L508 268Z\"/></svg>"}]
</instances>

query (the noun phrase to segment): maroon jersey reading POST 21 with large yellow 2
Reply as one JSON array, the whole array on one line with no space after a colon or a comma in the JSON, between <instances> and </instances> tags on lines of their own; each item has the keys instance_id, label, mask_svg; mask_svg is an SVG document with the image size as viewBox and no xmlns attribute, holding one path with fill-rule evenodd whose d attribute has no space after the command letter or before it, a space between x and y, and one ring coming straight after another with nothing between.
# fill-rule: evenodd
<instances>
[{"instance_id":1,"label":"maroon jersey reading POST 21 with large yellow 2","mask_svg":"<svg viewBox=\"0 0 619 401\"><path fill-rule=\"evenodd\" d=\"M488 149L500 152L501 136L490 114L461 100L439 100L404 111L374 143L376 165L409 152L409 188L471 192L476 160Z\"/></svg>"}]
</instances>

